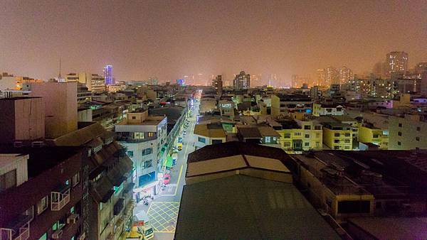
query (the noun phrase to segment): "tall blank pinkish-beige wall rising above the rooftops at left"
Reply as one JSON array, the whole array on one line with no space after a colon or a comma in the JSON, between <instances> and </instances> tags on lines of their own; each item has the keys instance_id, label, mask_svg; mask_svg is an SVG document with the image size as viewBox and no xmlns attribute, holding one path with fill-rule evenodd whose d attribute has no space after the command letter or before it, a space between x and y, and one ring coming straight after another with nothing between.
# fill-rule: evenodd
<instances>
[{"instance_id":1,"label":"tall blank pinkish-beige wall rising above the rooftops at left","mask_svg":"<svg viewBox=\"0 0 427 240\"><path fill-rule=\"evenodd\" d=\"M46 138L77 130L77 83L43 82L31 85L31 96L43 97Z\"/></svg>"}]
</instances>

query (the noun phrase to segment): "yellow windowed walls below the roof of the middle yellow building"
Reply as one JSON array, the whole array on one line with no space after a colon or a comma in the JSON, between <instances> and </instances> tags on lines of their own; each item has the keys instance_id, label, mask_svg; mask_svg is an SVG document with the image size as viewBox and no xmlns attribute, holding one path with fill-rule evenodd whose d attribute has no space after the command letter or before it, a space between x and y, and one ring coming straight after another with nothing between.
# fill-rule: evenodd
<instances>
[{"instance_id":1,"label":"yellow windowed walls below the roof of the middle yellow building","mask_svg":"<svg viewBox=\"0 0 427 240\"><path fill-rule=\"evenodd\" d=\"M335 134L339 134L339 136L335 136ZM346 134L347 136L345 136ZM335 143L335 141L339 141L339 142ZM325 143L325 145L331 148L332 150L351 151L353 148L352 131L332 130L324 126L323 127L323 143Z\"/></svg>"}]
</instances>

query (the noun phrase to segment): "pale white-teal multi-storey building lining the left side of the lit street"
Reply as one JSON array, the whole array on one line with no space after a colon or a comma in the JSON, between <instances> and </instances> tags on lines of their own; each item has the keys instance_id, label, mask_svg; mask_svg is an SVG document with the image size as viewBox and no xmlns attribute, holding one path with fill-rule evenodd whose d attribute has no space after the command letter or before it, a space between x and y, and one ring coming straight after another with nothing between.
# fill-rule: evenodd
<instances>
[{"instance_id":1,"label":"pale white-teal multi-storey building lining the left side of the lit street","mask_svg":"<svg viewBox=\"0 0 427 240\"><path fill-rule=\"evenodd\" d=\"M167 117L149 116L147 110L127 115L127 119L115 125L117 141L127 148L127 156L134 163L136 186L154 191L157 173L166 159Z\"/></svg>"}]
</instances>

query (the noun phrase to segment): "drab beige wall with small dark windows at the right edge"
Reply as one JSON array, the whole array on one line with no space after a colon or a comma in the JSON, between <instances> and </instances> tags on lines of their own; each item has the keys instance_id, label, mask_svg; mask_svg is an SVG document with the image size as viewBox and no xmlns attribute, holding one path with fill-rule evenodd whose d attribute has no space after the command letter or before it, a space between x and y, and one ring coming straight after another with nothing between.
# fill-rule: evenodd
<instances>
[{"instance_id":1,"label":"drab beige wall with small dark windows at the right edge","mask_svg":"<svg viewBox=\"0 0 427 240\"><path fill-rule=\"evenodd\" d=\"M391 116L389 118L389 150L426 149L426 132L427 123L424 121Z\"/></svg>"}]
</instances>

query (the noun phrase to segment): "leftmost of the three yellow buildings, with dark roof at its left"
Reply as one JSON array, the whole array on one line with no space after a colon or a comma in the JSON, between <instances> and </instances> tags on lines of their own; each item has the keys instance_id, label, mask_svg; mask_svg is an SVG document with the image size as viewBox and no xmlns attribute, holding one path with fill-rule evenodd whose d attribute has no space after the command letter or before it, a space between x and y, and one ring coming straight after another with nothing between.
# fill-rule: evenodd
<instances>
[{"instance_id":1,"label":"leftmost of the three yellow buildings, with dark roof at its left","mask_svg":"<svg viewBox=\"0 0 427 240\"><path fill-rule=\"evenodd\" d=\"M280 146L286 153L322 149L322 125L315 121L280 119L269 121L280 135Z\"/></svg>"}]
</instances>

